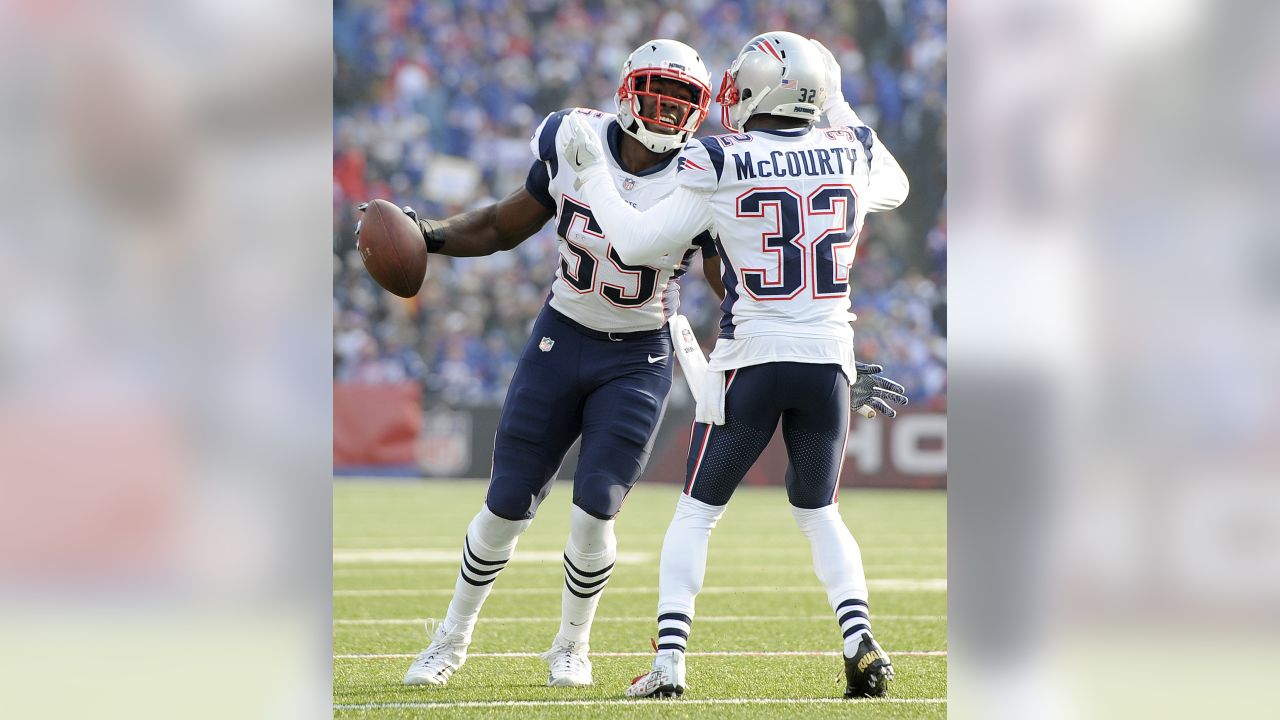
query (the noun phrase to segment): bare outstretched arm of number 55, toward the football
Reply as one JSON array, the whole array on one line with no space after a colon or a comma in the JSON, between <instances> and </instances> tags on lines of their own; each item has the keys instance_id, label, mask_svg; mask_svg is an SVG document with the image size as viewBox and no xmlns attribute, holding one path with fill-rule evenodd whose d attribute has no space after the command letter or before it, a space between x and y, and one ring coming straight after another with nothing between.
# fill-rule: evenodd
<instances>
[{"instance_id":1,"label":"bare outstretched arm of number 55, toward the football","mask_svg":"<svg viewBox=\"0 0 1280 720\"><path fill-rule=\"evenodd\" d=\"M521 187L503 200L447 220L419 219L422 240L430 252L453 258L493 255L529 240L556 217Z\"/></svg>"}]
</instances>

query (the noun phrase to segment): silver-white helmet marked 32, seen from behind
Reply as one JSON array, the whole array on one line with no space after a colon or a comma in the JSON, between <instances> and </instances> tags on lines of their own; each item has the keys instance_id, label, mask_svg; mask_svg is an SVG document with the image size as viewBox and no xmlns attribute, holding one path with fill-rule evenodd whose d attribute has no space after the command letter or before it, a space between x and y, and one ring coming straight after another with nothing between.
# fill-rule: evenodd
<instances>
[{"instance_id":1,"label":"silver-white helmet marked 32, seen from behind","mask_svg":"<svg viewBox=\"0 0 1280 720\"><path fill-rule=\"evenodd\" d=\"M721 123L742 132L748 118L758 114L815 123L828 90L827 65L813 44L794 32L776 31L742 46L724 70L716 101L721 104Z\"/></svg>"}]
</instances>

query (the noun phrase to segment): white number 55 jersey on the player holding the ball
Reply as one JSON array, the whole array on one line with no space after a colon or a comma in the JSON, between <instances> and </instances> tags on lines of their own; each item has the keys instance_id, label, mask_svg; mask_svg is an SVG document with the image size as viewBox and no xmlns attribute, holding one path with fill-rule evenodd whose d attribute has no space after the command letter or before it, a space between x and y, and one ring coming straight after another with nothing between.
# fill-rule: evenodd
<instances>
[{"instance_id":1,"label":"white number 55 jersey on the player holding the ball","mask_svg":"<svg viewBox=\"0 0 1280 720\"><path fill-rule=\"evenodd\" d=\"M576 323L600 332L658 329L680 306L678 278L694 255L714 255L709 233L691 233L687 245L649 265L627 265L609 245L591 214L577 177L561 156L557 135L570 113L580 114L600 136L609 174L622 199L646 210L676 188L676 156L639 174L622 169L618 147L622 128L612 113L576 108L552 113L538 126L529 142L541 161L525 182L530 195L556 211L559 236L559 266L552 283L549 304Z\"/></svg>"}]
</instances>

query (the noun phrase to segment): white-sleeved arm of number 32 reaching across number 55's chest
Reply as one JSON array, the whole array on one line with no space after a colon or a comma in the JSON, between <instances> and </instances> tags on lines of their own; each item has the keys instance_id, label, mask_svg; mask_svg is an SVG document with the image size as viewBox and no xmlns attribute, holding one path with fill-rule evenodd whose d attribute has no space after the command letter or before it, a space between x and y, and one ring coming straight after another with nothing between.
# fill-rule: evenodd
<instances>
[{"instance_id":1,"label":"white-sleeved arm of number 32 reaching across number 55's chest","mask_svg":"<svg viewBox=\"0 0 1280 720\"><path fill-rule=\"evenodd\" d=\"M675 192L644 213L627 205L613 186L604 165L600 138L577 115L570 115L561 128L564 159L582 186L595 222L628 265L650 265L663 255L678 252L712 222L707 195L677 187Z\"/></svg>"}]
</instances>

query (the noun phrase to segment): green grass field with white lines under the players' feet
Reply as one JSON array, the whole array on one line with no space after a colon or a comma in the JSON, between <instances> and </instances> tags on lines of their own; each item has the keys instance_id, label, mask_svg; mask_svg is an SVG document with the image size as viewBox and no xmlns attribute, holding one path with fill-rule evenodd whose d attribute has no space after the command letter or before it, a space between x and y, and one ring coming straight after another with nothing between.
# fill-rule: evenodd
<instances>
[{"instance_id":1,"label":"green grass field with white lines under the players' feet","mask_svg":"<svg viewBox=\"0 0 1280 720\"><path fill-rule=\"evenodd\" d=\"M538 653L559 628L568 483L520 539L480 615L467 664L444 688L403 687L443 618L480 482L334 486L335 716L946 717L946 495L841 492L863 550L872 626L897 679L886 700L842 701L840 629L781 488L741 488L712 534L689 638L689 689L622 697L657 635L658 553L678 486L641 483L618 515L618 564L591 637L595 685L548 688ZM708 653L708 655L700 655Z\"/></svg>"}]
</instances>

